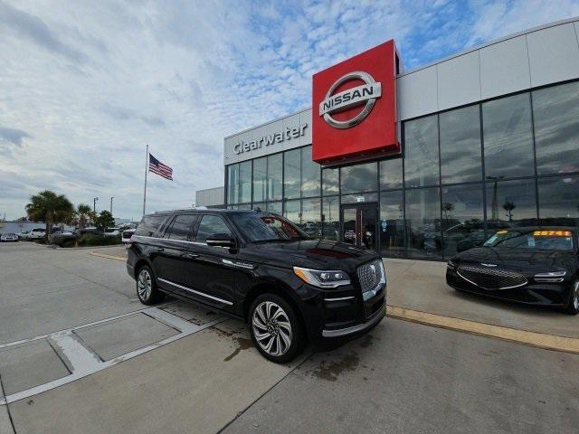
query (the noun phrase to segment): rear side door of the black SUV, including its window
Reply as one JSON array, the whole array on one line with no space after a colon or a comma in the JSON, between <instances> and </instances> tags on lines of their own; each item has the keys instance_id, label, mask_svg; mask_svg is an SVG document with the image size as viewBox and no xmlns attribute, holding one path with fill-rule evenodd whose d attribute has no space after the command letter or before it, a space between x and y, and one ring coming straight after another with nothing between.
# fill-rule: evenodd
<instances>
[{"instance_id":1,"label":"rear side door of the black SUV, including its window","mask_svg":"<svg viewBox=\"0 0 579 434\"><path fill-rule=\"evenodd\" d=\"M197 222L194 213L177 213L166 225L162 238L157 240L152 262L157 283L167 290L179 293L185 284L186 245Z\"/></svg>"}]
</instances>

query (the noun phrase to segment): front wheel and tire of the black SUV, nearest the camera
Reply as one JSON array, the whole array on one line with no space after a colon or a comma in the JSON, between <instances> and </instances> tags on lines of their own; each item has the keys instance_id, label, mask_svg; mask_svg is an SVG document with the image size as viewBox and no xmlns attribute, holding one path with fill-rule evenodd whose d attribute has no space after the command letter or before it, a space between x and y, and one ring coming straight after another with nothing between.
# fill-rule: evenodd
<instances>
[{"instance_id":1,"label":"front wheel and tire of the black SUV, nearest the camera","mask_svg":"<svg viewBox=\"0 0 579 434\"><path fill-rule=\"evenodd\" d=\"M306 338L294 308L276 294L262 294L250 307L252 341L263 357L287 363L304 349Z\"/></svg>"}]
</instances>

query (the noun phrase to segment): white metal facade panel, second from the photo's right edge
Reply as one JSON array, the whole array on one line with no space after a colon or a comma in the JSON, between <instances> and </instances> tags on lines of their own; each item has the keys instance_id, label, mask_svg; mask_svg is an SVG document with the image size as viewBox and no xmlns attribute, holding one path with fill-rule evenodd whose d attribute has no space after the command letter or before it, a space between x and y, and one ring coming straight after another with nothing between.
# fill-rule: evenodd
<instances>
[{"instance_id":1,"label":"white metal facade panel, second from the photo's right edge","mask_svg":"<svg viewBox=\"0 0 579 434\"><path fill-rule=\"evenodd\" d=\"M498 97L531 86L525 36L508 39L480 50L480 96Z\"/></svg>"}]
</instances>

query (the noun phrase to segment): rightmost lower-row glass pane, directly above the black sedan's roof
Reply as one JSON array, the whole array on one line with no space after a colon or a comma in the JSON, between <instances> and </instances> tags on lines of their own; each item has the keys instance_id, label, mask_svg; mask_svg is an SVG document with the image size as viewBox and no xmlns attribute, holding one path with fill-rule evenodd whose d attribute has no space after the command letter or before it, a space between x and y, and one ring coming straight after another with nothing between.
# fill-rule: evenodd
<instances>
[{"instance_id":1,"label":"rightmost lower-row glass pane, directly above the black sedan's roof","mask_svg":"<svg viewBox=\"0 0 579 434\"><path fill-rule=\"evenodd\" d=\"M541 224L577 226L579 222L579 176L538 180Z\"/></svg>"}]
</instances>

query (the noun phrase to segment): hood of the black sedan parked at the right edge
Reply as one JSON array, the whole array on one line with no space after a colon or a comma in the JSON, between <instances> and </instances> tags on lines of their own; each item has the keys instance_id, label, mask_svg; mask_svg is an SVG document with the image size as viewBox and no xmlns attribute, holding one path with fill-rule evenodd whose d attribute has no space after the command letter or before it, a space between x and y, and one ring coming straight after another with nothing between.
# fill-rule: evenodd
<instances>
[{"instance_id":1,"label":"hood of the black sedan parked at the right edge","mask_svg":"<svg viewBox=\"0 0 579 434\"><path fill-rule=\"evenodd\" d=\"M459 263L484 262L532 273L564 269L574 273L575 266L574 252L572 251L496 249L492 247L466 250L452 260L458 260Z\"/></svg>"}]
</instances>

